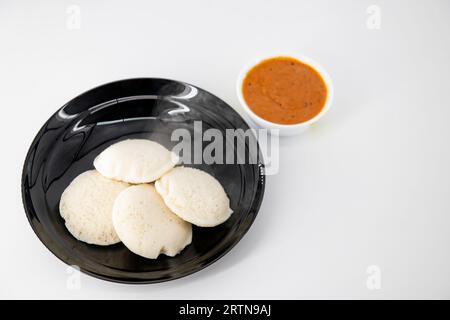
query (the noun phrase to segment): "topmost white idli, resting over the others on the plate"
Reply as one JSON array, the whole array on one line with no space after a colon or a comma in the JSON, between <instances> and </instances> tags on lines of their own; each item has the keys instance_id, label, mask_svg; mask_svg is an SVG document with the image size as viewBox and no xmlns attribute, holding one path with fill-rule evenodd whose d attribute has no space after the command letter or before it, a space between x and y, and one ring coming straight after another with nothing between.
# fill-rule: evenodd
<instances>
[{"instance_id":1,"label":"topmost white idli, resting over the others on the plate","mask_svg":"<svg viewBox=\"0 0 450 320\"><path fill-rule=\"evenodd\" d=\"M129 183L147 183L161 177L178 162L178 157L159 143L146 139L117 142L94 160L103 176Z\"/></svg>"}]
</instances>

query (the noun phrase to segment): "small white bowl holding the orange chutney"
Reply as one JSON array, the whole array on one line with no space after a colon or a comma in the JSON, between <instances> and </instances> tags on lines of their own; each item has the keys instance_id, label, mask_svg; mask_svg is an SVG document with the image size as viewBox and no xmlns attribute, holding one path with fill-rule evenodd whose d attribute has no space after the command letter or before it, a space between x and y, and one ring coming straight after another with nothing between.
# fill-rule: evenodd
<instances>
[{"instance_id":1,"label":"small white bowl holding the orange chutney","mask_svg":"<svg viewBox=\"0 0 450 320\"><path fill-rule=\"evenodd\" d=\"M307 65L311 66L312 68L314 68L322 76L322 79L325 82L325 85L327 86L327 91L328 91L327 100L325 101L325 105L323 106L322 110L314 118L312 118L308 121L296 123L296 124L274 123L274 122L267 121L267 120L261 118L260 116L258 116L257 114L255 114L249 108L247 103L245 102L244 97L242 95L242 82L244 81L244 78L247 75L247 73L250 71L250 69L252 69L258 63L260 63L264 60L276 58L276 57L290 57L290 58L297 59L300 62L307 64ZM328 109L330 109L330 106L333 102L334 88L333 88L333 82L331 81L330 75L325 71L324 68L322 68L322 66L320 66L317 62L313 61L312 59L304 57L304 56L291 55L291 54L276 54L276 55L266 56L261 59L257 59L255 61L253 61L253 63L248 64L244 69L242 69L242 71L239 75L238 81L237 81L237 95L238 95L239 102L241 103L245 112L247 113L247 115L250 117L253 124L255 124L257 128L275 129L275 130L272 130L271 132L274 134L279 134L281 136L291 136L291 135L296 135L296 134L303 132L311 124L313 124L314 122L319 120L328 111Z\"/></svg>"}]
</instances>

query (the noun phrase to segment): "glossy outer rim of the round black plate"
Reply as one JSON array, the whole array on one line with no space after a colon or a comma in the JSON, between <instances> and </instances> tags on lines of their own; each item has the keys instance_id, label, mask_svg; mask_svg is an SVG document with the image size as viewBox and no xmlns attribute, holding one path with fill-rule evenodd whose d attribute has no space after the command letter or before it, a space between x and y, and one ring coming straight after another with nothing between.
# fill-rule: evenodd
<instances>
[{"instance_id":1,"label":"glossy outer rim of the round black plate","mask_svg":"<svg viewBox=\"0 0 450 320\"><path fill-rule=\"evenodd\" d=\"M84 94L87 94L88 92L98 89L100 87L103 86L107 86L107 85L111 85L117 82L125 82L125 81L133 81L133 80L165 80L165 81L173 81L173 82L179 82L182 84L186 84L192 87L197 88L198 90L201 90L203 92L206 92L208 94L210 94L211 96L215 97L216 99L222 100L219 97L217 97L216 95L212 94L211 92L204 90L202 88L199 88L195 85L192 85L190 83L184 82L184 81L178 81L178 80L172 80L172 79L167 79L167 78L153 78L153 77L137 77L137 78L127 78L127 79L121 79L121 80L116 80L116 81L111 81L111 82L107 82L98 86L95 86L89 90L84 91L83 93L77 95L76 97L72 98L71 100L69 100L66 104L69 104L71 101L83 96ZM64 105L66 105L64 104ZM63 105L63 106L64 106ZM229 108L231 108L234 112L236 112L231 106L229 106L228 104L226 104ZM59 108L60 109L60 108ZM38 133L36 134L36 136L34 137L28 151L27 151L27 155L25 157L25 161L23 163L22 166L22 177L21 177L21 194L22 194L22 205L24 207L25 210L25 214L27 216L27 220L28 223L30 224L31 228L33 229L33 232L36 234L36 236L39 238L39 240L41 241L41 243L54 255L56 256L60 261L64 262L66 265L71 266L73 265L73 263L70 263L70 261L72 260L72 258L70 256L67 257L62 257L62 255L58 252L58 250L56 250L55 246L51 246L49 244L49 242L52 241L51 238L47 238L47 234L44 234L45 231L40 232L39 230L37 230L37 226L34 223L34 221L32 220L32 214L29 212L28 206L26 204L26 188L25 188L25 178L26 178L26 167L28 162L30 161L30 158L32 156L33 153L33 148L36 146L37 142L39 141L39 138L41 136L41 132L45 129L48 121L50 121L50 119L52 119L54 116L57 115L58 111L55 111L49 118L48 120L42 125L42 127L39 129ZM237 112L236 112L237 113ZM247 126L250 128L250 126L248 125L248 123L245 121L245 119L243 119L241 117L241 120L247 124ZM259 148L259 146L258 146ZM259 151L260 152L260 151ZM176 279L180 279L180 278L184 278L186 276L189 276L191 274L194 274L198 271L201 271L203 269L205 269L206 267L210 266L211 264L213 264L214 262L218 261L219 259L221 259L223 256L225 256L228 252L230 252L241 240L242 238L247 234L248 230L250 229L250 227L252 226L253 222L256 219L256 216L259 213L259 209L261 207L263 198L264 198L264 190L265 190L265 171L264 171L264 163L262 162L263 157L260 157L261 161L258 162L258 164L260 165L259 167L259 179L258 179L258 184L257 184L257 189L255 190L255 197L254 197L254 201L252 203L252 207L251 210L254 211L254 214L251 218L250 223L248 223L248 226L243 230L242 235L233 243L231 243L228 247L224 248L221 251L218 251L216 254L214 254L205 264L201 265L201 266L197 266L195 268L192 268L190 270L187 270L183 273L178 273L177 275L174 276L167 276L165 278L159 278L159 279L149 279L149 280L143 280L143 279L134 279L134 280L130 280L130 279L122 279L119 277L112 277L112 276L104 276L103 274L100 273L95 273L92 272L90 270L87 270L85 268L79 267L79 270L85 274L88 274L90 276L93 276L94 278L97 279L101 279L101 280L105 280L105 281L109 281L109 282L115 282L115 283L121 283L121 284L153 284L153 283L161 283L161 282L167 282L167 281L171 281L171 280L176 280Z\"/></svg>"}]
</instances>

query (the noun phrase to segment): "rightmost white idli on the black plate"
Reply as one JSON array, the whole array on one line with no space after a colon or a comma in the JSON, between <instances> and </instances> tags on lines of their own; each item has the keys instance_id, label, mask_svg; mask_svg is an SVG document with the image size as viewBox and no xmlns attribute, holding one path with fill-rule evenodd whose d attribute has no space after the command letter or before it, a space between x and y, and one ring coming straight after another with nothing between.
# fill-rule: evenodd
<instances>
[{"instance_id":1,"label":"rightmost white idli on the black plate","mask_svg":"<svg viewBox=\"0 0 450 320\"><path fill-rule=\"evenodd\" d=\"M155 187L170 210L199 227L221 224L233 212L219 181L199 169L174 168Z\"/></svg>"}]
</instances>

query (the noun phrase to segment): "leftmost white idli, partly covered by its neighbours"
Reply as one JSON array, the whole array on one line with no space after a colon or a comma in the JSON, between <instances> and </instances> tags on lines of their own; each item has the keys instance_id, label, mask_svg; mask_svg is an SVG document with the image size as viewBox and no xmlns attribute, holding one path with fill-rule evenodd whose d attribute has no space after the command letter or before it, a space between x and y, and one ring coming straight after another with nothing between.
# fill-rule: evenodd
<instances>
[{"instance_id":1,"label":"leftmost white idli, partly covered by its neighbours","mask_svg":"<svg viewBox=\"0 0 450 320\"><path fill-rule=\"evenodd\" d=\"M112 223L112 208L129 185L109 180L96 170L77 176L64 190L59 212L69 232L78 240L97 245L120 242Z\"/></svg>"}]
</instances>

